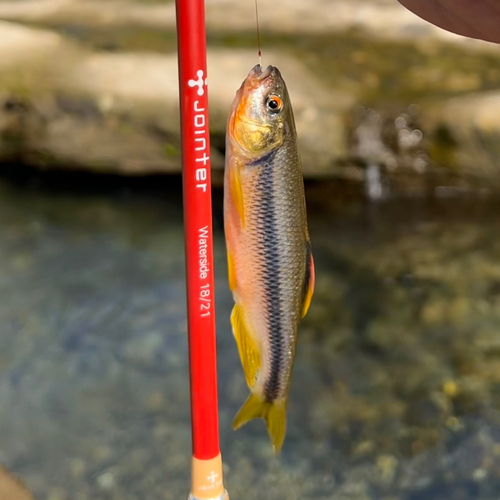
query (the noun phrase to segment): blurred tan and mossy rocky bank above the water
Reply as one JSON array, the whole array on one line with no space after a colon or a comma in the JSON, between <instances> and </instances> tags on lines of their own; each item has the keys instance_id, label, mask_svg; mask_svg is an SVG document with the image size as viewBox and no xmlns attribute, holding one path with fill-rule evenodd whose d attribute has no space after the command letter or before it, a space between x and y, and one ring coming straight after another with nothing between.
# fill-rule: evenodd
<instances>
[{"instance_id":1,"label":"blurred tan and mossy rocky bank above the water","mask_svg":"<svg viewBox=\"0 0 500 500\"><path fill-rule=\"evenodd\" d=\"M362 181L374 163L398 189L500 185L486 118L500 101L497 46L392 0L261 4L263 62L290 87L306 177ZM229 105L256 61L253 8L207 4L216 180ZM179 171L174 23L173 3L0 2L0 161Z\"/></svg>"}]
</instances>

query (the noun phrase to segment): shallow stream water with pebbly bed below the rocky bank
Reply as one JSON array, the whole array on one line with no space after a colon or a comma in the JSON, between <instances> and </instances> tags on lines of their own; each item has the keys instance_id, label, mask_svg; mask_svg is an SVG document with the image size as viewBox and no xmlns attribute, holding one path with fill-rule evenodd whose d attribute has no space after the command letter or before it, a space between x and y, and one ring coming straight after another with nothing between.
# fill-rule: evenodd
<instances>
[{"instance_id":1,"label":"shallow stream water with pebbly bed below the rocky bank","mask_svg":"<svg viewBox=\"0 0 500 500\"><path fill-rule=\"evenodd\" d=\"M185 498L179 181L28 180L0 183L0 459L38 499ZM497 499L500 203L307 195L317 286L276 459L263 422L231 430L247 389L214 193L231 498Z\"/></svg>"}]
</instances>

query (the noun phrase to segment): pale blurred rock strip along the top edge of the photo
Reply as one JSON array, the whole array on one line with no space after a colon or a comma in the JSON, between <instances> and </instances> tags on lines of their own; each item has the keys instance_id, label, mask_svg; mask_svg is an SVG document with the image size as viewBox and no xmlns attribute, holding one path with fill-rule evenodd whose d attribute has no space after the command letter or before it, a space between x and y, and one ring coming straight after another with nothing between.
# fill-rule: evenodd
<instances>
[{"instance_id":1,"label":"pale blurred rock strip along the top edge of the photo","mask_svg":"<svg viewBox=\"0 0 500 500\"><path fill-rule=\"evenodd\" d=\"M273 0L259 4L265 33L345 33L375 39L440 40L480 51L495 44L446 32L418 18L395 0ZM279 12L279 15L276 13ZM97 26L134 25L175 30L175 3L125 0L0 1L0 19L29 23ZM209 32L253 32L253 2L211 0L206 4Z\"/></svg>"}]
</instances>

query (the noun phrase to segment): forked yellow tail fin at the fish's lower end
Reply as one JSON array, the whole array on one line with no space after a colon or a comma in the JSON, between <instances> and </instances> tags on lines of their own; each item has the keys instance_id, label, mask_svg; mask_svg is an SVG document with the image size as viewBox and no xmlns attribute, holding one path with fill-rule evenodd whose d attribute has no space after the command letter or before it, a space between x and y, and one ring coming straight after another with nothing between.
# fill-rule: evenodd
<instances>
[{"instance_id":1,"label":"forked yellow tail fin at the fish's lower end","mask_svg":"<svg viewBox=\"0 0 500 500\"><path fill-rule=\"evenodd\" d=\"M268 403L257 394L250 394L234 418L233 429L239 429L254 418L265 420L273 450L278 453L283 446L286 434L286 401L278 399Z\"/></svg>"}]
</instances>

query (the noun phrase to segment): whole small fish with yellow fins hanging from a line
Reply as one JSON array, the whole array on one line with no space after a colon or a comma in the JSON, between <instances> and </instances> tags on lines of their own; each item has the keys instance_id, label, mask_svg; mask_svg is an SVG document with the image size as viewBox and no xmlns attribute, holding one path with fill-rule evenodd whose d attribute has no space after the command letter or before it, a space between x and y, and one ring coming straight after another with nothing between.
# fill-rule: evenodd
<instances>
[{"instance_id":1,"label":"whole small fish with yellow fins hanging from a line","mask_svg":"<svg viewBox=\"0 0 500 500\"><path fill-rule=\"evenodd\" d=\"M278 453L315 272L294 114L274 66L252 68L229 112L224 232L231 325L250 389L233 428L264 419Z\"/></svg>"}]
</instances>

